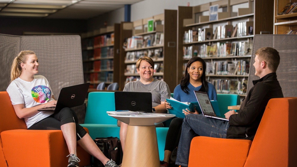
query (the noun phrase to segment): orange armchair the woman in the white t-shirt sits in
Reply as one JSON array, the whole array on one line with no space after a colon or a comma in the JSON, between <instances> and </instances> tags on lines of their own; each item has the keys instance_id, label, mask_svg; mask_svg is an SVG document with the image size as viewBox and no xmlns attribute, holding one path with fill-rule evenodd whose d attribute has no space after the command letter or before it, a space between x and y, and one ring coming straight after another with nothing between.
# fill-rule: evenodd
<instances>
[{"instance_id":1,"label":"orange armchair the woman in the white t-shirt sits in","mask_svg":"<svg viewBox=\"0 0 297 167\"><path fill-rule=\"evenodd\" d=\"M69 151L61 130L27 130L7 92L0 92L0 108L0 167L68 165ZM90 165L91 155L80 146L77 154L80 166Z\"/></svg>"}]
</instances>

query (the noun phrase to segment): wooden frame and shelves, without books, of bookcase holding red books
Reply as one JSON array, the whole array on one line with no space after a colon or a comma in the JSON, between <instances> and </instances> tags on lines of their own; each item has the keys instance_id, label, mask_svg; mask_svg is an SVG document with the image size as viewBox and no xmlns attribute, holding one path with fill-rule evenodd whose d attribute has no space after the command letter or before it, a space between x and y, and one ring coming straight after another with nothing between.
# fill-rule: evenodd
<instances>
[{"instance_id":1,"label":"wooden frame and shelves, without books, of bookcase holding red books","mask_svg":"<svg viewBox=\"0 0 297 167\"><path fill-rule=\"evenodd\" d=\"M110 26L111 27L111 26ZM99 31L99 30L98 30ZM86 81L87 78L89 78L87 75L90 75L91 73L102 73L102 72L113 72L113 82L118 82L119 83L119 65L120 65L120 62L119 62L119 49L120 49L120 43L119 43L119 40L120 40L120 24L117 24L115 23L114 26L113 26L113 29L112 30L108 30L106 31L106 29L102 32L102 29L100 29L100 31L102 33L96 33L98 31L94 31L94 33L92 35L82 35L82 39L92 39L94 37L98 37L98 36L101 36L101 35L105 35L105 34L111 34L111 33L114 33L114 44L111 44L111 45L105 45L105 46L99 46L99 47L93 47L93 48L87 48L87 49L84 49L83 51L88 51L88 52L93 52L93 55L94 55L94 49L97 49L97 48L105 48L105 47L113 47L114 51L113 51L113 56L112 57L102 57L102 58L97 58L97 59L94 59L94 58L91 58L91 59L88 59L88 60L83 60L83 65L86 65L84 63L93 63L94 61L98 61L98 60L108 60L108 59L113 59L113 69L112 70L100 70L100 71L94 71L94 70L91 70L91 71L84 71L84 75L86 75L85 78L85 82L90 82L90 81ZM94 65L94 64L93 64ZM95 82L90 82L91 85L93 85L94 88L96 88L97 84L101 83L102 81L100 81L100 78L98 78L99 81L95 81ZM110 84L110 83L113 83L113 82L105 82L105 84Z\"/></svg>"}]
</instances>

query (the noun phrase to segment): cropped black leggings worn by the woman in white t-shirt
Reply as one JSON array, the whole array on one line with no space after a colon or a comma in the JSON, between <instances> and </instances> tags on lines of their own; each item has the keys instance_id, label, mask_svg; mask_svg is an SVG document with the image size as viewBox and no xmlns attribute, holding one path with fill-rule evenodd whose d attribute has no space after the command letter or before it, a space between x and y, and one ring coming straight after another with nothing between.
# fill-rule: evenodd
<instances>
[{"instance_id":1,"label":"cropped black leggings worn by the woman in white t-shirt","mask_svg":"<svg viewBox=\"0 0 297 167\"><path fill-rule=\"evenodd\" d=\"M61 125L68 123L75 123L76 127L76 141L80 140L87 134L86 130L83 129L78 123L78 118L75 112L71 108L63 108L59 112L55 112L54 114L42 119L31 127L29 130L61 130Z\"/></svg>"}]
</instances>

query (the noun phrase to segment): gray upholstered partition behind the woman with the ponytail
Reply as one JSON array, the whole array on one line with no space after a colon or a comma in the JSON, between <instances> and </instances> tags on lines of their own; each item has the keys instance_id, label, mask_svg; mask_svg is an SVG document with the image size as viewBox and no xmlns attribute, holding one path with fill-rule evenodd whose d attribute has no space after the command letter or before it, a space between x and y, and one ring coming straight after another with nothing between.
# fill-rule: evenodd
<instances>
[{"instance_id":1,"label":"gray upholstered partition behind the woman with the ponytail","mask_svg":"<svg viewBox=\"0 0 297 167\"><path fill-rule=\"evenodd\" d=\"M61 88L83 83L81 41L78 35L13 36L0 34L0 91L10 84L10 68L20 51L34 51L39 60L39 73L48 79L56 99ZM83 123L85 107L75 108Z\"/></svg>"}]
</instances>

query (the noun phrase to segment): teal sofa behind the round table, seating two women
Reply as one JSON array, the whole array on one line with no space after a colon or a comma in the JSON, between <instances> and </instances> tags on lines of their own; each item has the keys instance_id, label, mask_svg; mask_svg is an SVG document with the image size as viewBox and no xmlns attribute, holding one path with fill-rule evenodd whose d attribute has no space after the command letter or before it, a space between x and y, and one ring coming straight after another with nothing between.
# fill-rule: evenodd
<instances>
[{"instance_id":1,"label":"teal sofa behind the round table, seating two women","mask_svg":"<svg viewBox=\"0 0 297 167\"><path fill-rule=\"evenodd\" d=\"M171 93L173 97L173 93ZM236 94L217 94L217 100L221 116L228 112L228 106L239 105L240 98ZM89 93L86 117L83 127L88 128L92 139L97 137L120 137L120 127L117 126L117 119L106 114L106 111L115 111L114 92L91 92ZM160 160L164 159L165 140L172 119L166 122L166 127L157 127L157 140Z\"/></svg>"}]
</instances>

